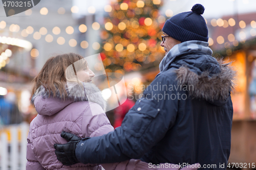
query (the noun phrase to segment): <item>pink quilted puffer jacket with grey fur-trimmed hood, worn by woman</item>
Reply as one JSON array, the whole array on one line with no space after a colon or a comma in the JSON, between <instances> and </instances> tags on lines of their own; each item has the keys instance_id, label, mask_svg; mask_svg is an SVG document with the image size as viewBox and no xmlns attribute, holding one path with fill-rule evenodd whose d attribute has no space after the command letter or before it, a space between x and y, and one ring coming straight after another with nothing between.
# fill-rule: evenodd
<instances>
[{"instance_id":1,"label":"pink quilted puffer jacket with grey fur-trimmed hood, worn by woman","mask_svg":"<svg viewBox=\"0 0 256 170\"><path fill-rule=\"evenodd\" d=\"M39 87L33 95L31 102L35 105L38 115L30 124L26 169L101 170L102 166L106 170L161 169L149 168L148 163L135 159L102 164L102 166L82 163L65 166L57 160L53 145L67 143L66 139L60 137L62 131L84 138L101 136L114 130L105 115L106 104L99 89L92 83L83 83L83 88L84 90L78 86L67 87L68 99L65 101L61 100L58 91L56 97L48 97L44 87ZM178 170L179 168L165 169Z\"/></svg>"}]
</instances>

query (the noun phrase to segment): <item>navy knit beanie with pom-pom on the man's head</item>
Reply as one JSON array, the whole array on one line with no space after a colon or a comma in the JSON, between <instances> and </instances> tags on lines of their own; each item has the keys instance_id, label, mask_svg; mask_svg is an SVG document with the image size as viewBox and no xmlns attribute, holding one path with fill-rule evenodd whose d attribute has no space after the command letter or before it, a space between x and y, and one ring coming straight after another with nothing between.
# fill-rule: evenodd
<instances>
[{"instance_id":1,"label":"navy knit beanie with pom-pom on the man's head","mask_svg":"<svg viewBox=\"0 0 256 170\"><path fill-rule=\"evenodd\" d=\"M162 31L181 42L190 40L208 42L208 29L201 15L203 13L204 7L196 4L190 12L182 12L166 20Z\"/></svg>"}]
</instances>

